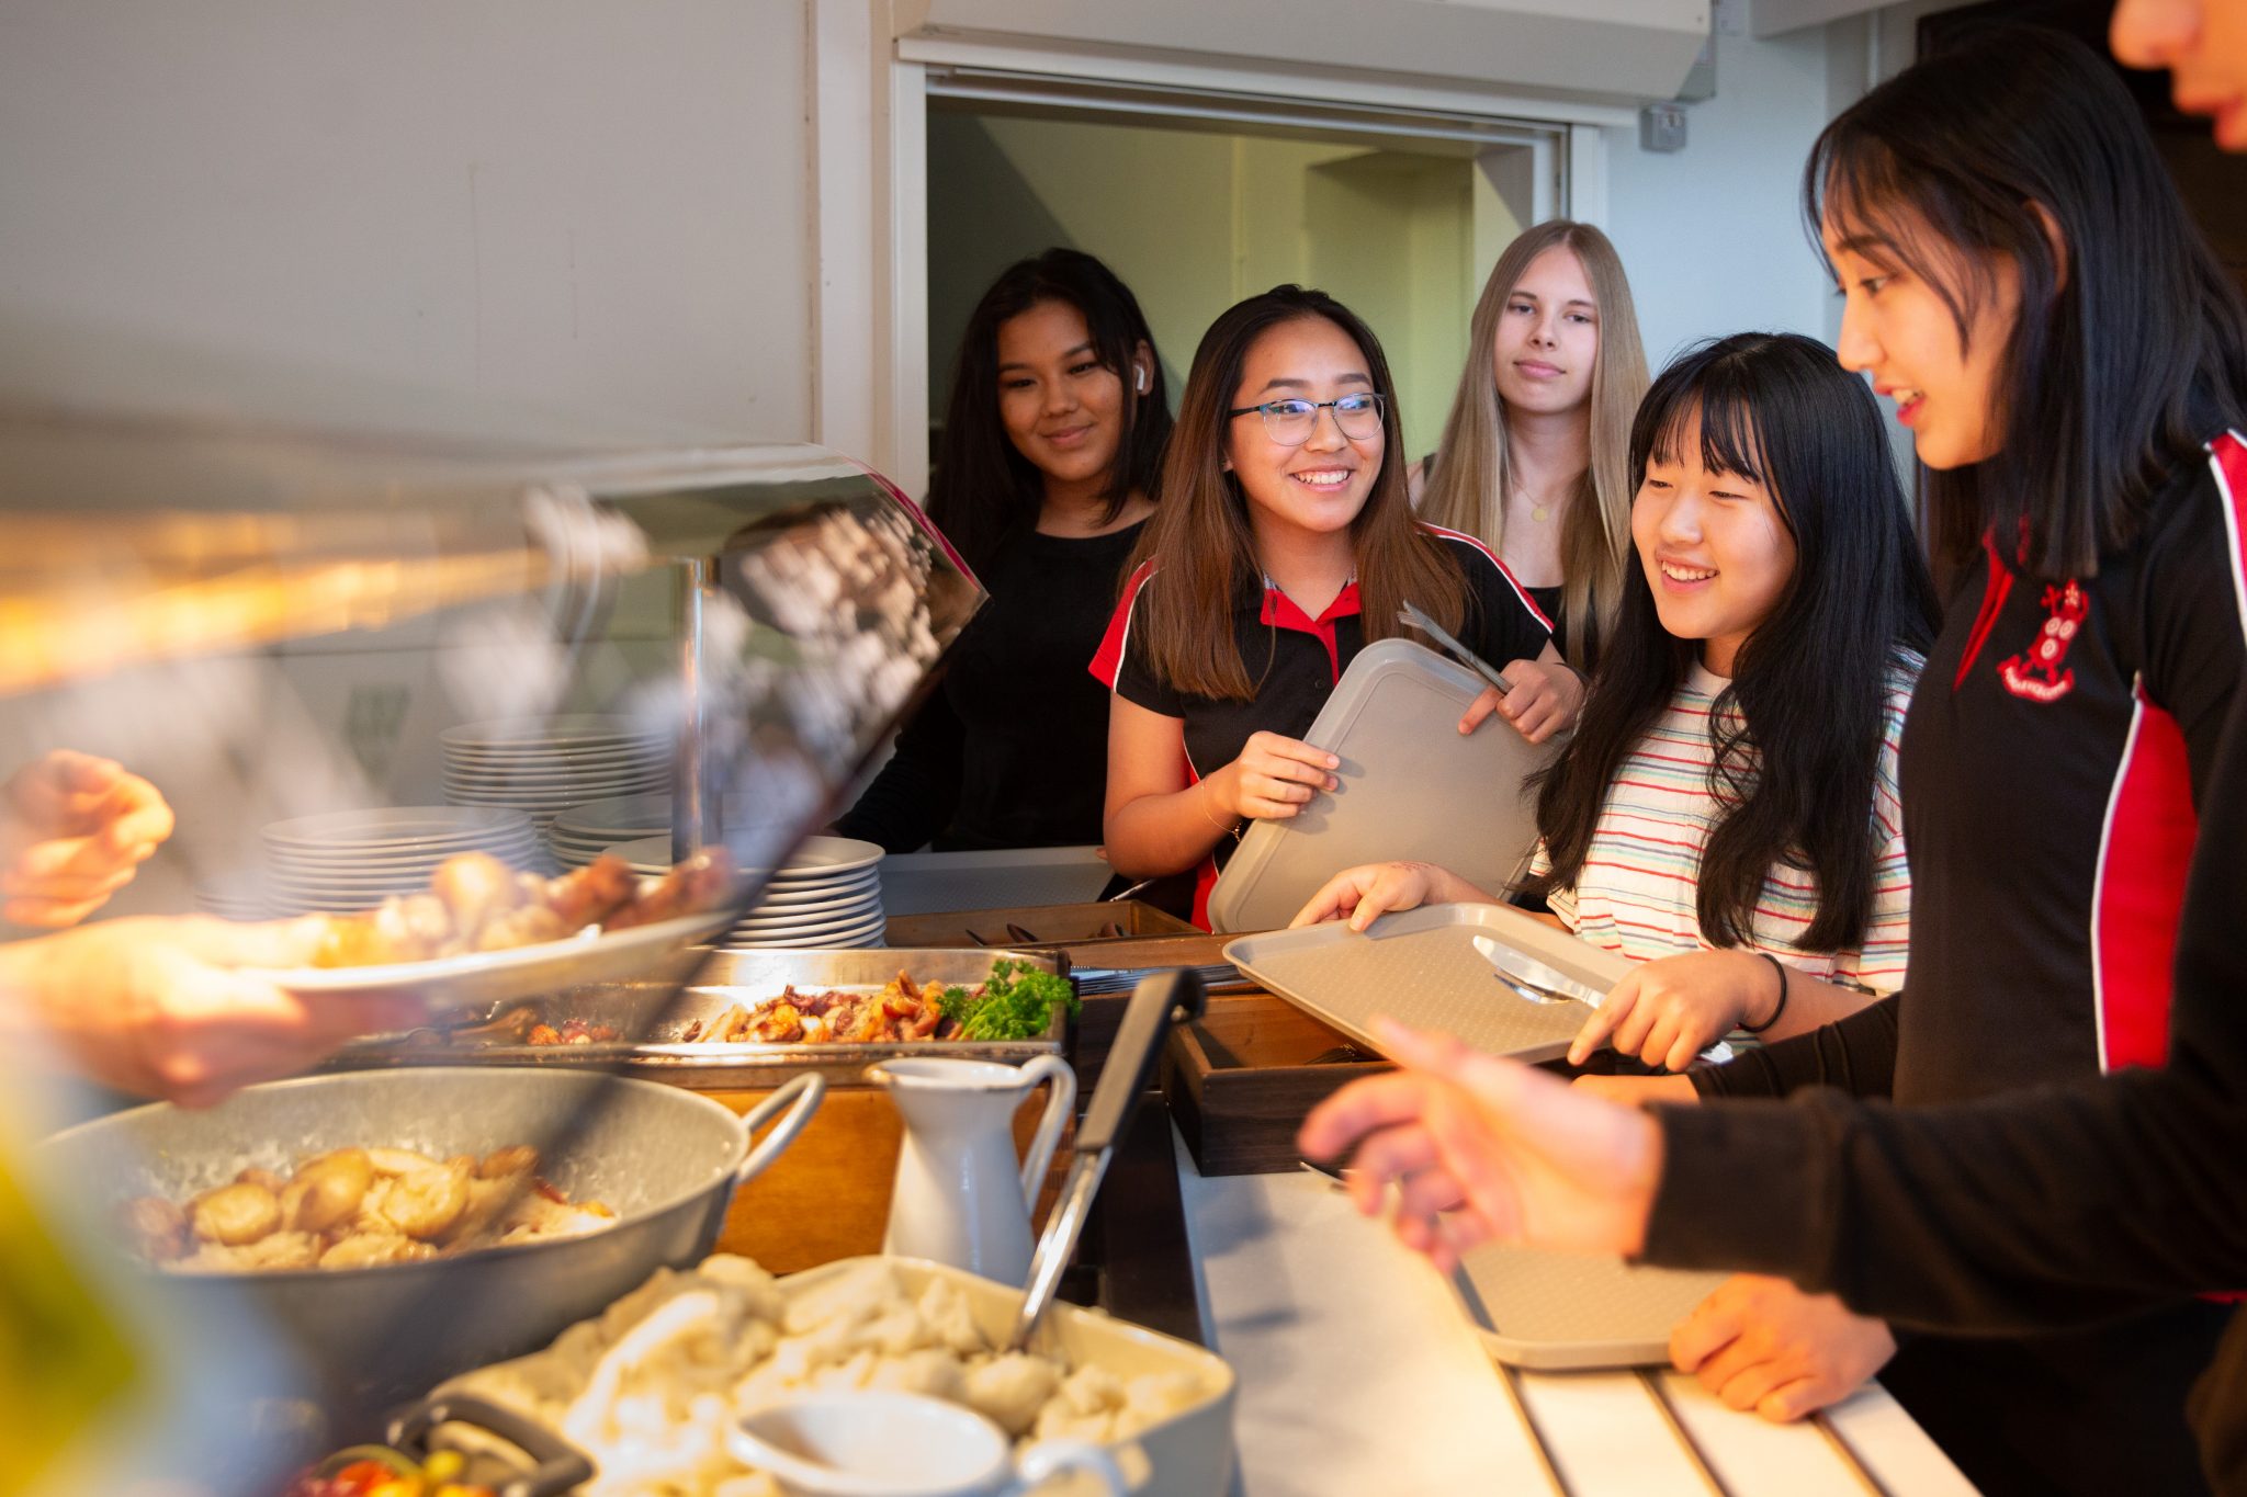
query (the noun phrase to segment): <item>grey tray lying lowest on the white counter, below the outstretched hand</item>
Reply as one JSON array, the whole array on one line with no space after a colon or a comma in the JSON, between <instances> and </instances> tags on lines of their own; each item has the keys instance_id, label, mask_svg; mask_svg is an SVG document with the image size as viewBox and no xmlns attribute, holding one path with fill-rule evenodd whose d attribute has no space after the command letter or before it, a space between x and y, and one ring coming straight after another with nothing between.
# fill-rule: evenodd
<instances>
[{"instance_id":1,"label":"grey tray lying lowest on the white counter, below the outstretched hand","mask_svg":"<svg viewBox=\"0 0 2247 1497\"><path fill-rule=\"evenodd\" d=\"M1728 1277L1537 1248L1476 1248L1452 1275L1452 1288L1490 1356L1510 1367L1575 1371L1667 1362L1670 1331Z\"/></svg>"}]
</instances>

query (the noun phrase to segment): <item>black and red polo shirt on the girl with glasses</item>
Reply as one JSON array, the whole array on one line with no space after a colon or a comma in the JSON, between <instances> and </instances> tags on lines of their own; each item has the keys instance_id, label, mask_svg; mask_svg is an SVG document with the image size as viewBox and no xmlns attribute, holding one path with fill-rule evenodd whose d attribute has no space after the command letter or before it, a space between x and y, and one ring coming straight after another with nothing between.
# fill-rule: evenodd
<instances>
[{"instance_id":1,"label":"black and red polo shirt on the girl with glasses","mask_svg":"<svg viewBox=\"0 0 2247 1497\"><path fill-rule=\"evenodd\" d=\"M1436 525L1427 530L1445 543L1467 579L1467 617L1458 628L1458 642L1501 669L1510 660L1535 660L1553 637L1553 624L1497 552L1456 530ZM1310 732L1335 682L1366 644L1355 581L1319 617L1310 617L1270 579L1249 579L1234 599L1231 624L1240 662L1256 680L1256 696L1245 702L1191 696L1155 676L1146 658L1146 635L1132 631L1139 599L1157 586L1162 586L1157 563L1141 566L1126 584L1124 599L1108 622L1108 637L1092 658L1092 673L1124 700L1180 718L1186 738L1186 783L1198 783L1202 774L1238 759L1252 734L1301 738ZM1234 842L1222 839L1216 855L1202 860L1195 878L1193 920L1204 929L1209 887L1218 882L1218 869L1231 851Z\"/></svg>"}]
</instances>

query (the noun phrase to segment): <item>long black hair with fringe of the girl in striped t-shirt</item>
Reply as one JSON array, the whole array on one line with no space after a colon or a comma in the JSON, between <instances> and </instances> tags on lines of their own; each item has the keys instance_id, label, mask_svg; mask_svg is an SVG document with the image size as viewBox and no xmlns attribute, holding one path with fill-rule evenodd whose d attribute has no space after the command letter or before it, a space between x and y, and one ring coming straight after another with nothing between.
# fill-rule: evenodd
<instances>
[{"instance_id":1,"label":"long black hair with fringe of the girl in striped t-shirt","mask_svg":"<svg viewBox=\"0 0 2247 1497\"><path fill-rule=\"evenodd\" d=\"M1926 655L1935 588L1865 382L1793 332L1735 332L1663 370L1631 422L1631 485L1701 426L1701 465L1771 489L1795 570L1732 660L1708 734L1719 810L1701 851L1696 913L1719 947L1741 945L1773 864L1818 878L1809 949L1861 945L1872 920L1872 792L1899 651ZM1575 741L1546 770L1537 830L1550 893L1577 882L1609 786L1670 705L1699 640L1654 610L1634 545L1622 615L1600 658Z\"/></svg>"}]
</instances>

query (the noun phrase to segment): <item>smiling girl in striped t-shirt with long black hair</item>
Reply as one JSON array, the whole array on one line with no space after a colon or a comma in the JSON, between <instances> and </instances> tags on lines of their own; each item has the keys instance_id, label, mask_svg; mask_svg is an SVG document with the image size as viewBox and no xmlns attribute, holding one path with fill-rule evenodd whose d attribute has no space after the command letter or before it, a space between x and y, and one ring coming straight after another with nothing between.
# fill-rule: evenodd
<instances>
[{"instance_id":1,"label":"smiling girl in striped t-shirt with long black hair","mask_svg":"<svg viewBox=\"0 0 2247 1497\"><path fill-rule=\"evenodd\" d=\"M1537 799L1526 889L1647 963L1571 1050L1683 1071L1719 1035L1829 1023L1903 981L1896 738L1935 590L1865 384L1741 332L1631 424L1634 586ZM1297 925L1492 900L1429 864L1335 875ZM1784 963L1784 965L1782 965Z\"/></svg>"}]
</instances>

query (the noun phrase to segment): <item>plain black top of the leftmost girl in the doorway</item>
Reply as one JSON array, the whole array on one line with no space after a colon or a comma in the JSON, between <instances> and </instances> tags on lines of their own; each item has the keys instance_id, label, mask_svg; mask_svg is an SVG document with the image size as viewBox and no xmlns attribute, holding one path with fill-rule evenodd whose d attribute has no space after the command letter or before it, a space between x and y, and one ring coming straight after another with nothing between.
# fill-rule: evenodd
<instances>
[{"instance_id":1,"label":"plain black top of the leftmost girl in the doorway","mask_svg":"<svg viewBox=\"0 0 2247 1497\"><path fill-rule=\"evenodd\" d=\"M1085 664L1137 539L1139 525L1002 541L980 572L991 599L836 830L885 853L1099 842L1108 691Z\"/></svg>"}]
</instances>

